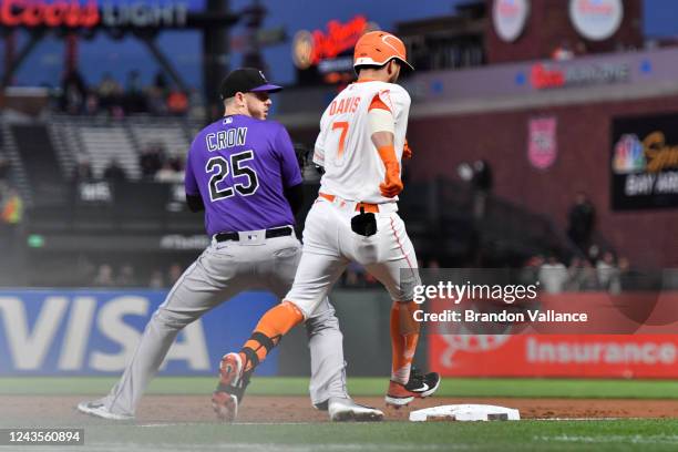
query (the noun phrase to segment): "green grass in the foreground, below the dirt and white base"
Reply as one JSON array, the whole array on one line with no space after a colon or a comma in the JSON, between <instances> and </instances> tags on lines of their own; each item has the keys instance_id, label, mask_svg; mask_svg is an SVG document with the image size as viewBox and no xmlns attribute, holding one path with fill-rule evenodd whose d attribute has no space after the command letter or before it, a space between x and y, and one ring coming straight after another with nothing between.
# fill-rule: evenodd
<instances>
[{"instance_id":1,"label":"green grass in the foreground, below the dirt and white base","mask_svg":"<svg viewBox=\"0 0 678 452\"><path fill-rule=\"evenodd\" d=\"M374 424L104 424L83 451L675 451L676 420ZM75 450L75 449L73 449Z\"/></svg>"}]
</instances>

